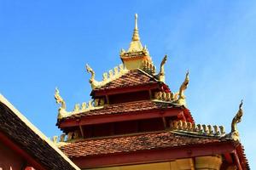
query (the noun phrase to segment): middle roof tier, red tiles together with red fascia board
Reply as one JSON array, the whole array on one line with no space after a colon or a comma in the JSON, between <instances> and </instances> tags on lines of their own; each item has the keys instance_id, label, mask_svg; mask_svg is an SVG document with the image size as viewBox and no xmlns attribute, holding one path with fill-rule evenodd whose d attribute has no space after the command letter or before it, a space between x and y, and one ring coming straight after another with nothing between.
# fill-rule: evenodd
<instances>
[{"instance_id":1,"label":"middle roof tier, red tiles together with red fascia board","mask_svg":"<svg viewBox=\"0 0 256 170\"><path fill-rule=\"evenodd\" d=\"M188 109L180 105L154 100L141 100L121 104L105 105L102 109L84 111L62 118L57 125L65 127L83 126L106 122L121 122L165 116L183 116L194 122Z\"/></svg>"}]
</instances>

